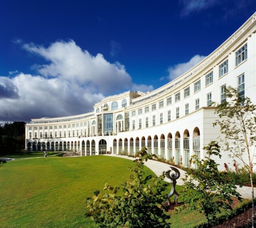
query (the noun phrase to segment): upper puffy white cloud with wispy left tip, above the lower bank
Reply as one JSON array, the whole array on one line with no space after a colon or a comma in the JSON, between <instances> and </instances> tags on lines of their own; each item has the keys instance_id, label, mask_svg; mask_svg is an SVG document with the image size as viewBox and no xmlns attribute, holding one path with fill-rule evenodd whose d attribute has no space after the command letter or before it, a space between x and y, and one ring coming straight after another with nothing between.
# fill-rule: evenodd
<instances>
[{"instance_id":1,"label":"upper puffy white cloud with wispy left tip, above the lower bank","mask_svg":"<svg viewBox=\"0 0 256 228\"><path fill-rule=\"evenodd\" d=\"M92 56L77 46L73 40L55 42L48 48L34 44L25 44L23 47L50 61L50 64L34 66L44 77L79 82L102 93L110 93L117 89L120 91L132 86L132 78L122 64L111 64L100 53Z\"/></svg>"}]
</instances>

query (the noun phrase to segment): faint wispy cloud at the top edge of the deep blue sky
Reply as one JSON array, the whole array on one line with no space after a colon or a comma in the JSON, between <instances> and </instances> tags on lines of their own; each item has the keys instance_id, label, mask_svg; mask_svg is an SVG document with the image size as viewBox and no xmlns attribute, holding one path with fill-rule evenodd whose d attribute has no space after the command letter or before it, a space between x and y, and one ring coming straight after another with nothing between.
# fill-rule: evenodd
<instances>
[{"instance_id":1,"label":"faint wispy cloud at the top edge of the deep blue sky","mask_svg":"<svg viewBox=\"0 0 256 228\"><path fill-rule=\"evenodd\" d=\"M180 0L183 5L181 14L182 16L187 16L190 13L208 9L219 2L219 0Z\"/></svg>"}]
</instances>

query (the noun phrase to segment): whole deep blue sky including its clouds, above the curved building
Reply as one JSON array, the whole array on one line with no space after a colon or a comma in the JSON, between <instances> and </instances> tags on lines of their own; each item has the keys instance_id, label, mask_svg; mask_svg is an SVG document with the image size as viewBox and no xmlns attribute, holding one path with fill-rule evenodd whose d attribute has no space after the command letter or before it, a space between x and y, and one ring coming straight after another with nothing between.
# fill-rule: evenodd
<instances>
[{"instance_id":1,"label":"whole deep blue sky including its clouds, above the curved building","mask_svg":"<svg viewBox=\"0 0 256 228\"><path fill-rule=\"evenodd\" d=\"M0 122L159 88L255 11L254 0L0 0Z\"/></svg>"}]
</instances>

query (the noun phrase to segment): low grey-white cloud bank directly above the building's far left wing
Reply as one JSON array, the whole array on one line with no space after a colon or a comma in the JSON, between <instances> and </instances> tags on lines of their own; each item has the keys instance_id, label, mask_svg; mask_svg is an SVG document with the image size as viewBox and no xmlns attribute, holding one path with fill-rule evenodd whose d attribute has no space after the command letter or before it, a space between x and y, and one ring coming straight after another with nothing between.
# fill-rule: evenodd
<instances>
[{"instance_id":1,"label":"low grey-white cloud bank directly above the building's far left wing","mask_svg":"<svg viewBox=\"0 0 256 228\"><path fill-rule=\"evenodd\" d=\"M101 93L93 93L89 88L58 78L20 73L9 82L19 88L18 96L13 99L1 97L2 121L28 122L33 118L82 114L104 98Z\"/></svg>"}]
</instances>

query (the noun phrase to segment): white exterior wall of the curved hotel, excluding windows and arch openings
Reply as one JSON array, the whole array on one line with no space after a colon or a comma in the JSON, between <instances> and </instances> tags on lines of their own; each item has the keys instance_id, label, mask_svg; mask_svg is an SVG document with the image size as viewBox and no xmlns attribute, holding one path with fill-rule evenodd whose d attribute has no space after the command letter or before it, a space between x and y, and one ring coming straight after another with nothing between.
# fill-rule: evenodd
<instances>
[{"instance_id":1,"label":"white exterior wall of the curved hotel, excluding windows and arch openings","mask_svg":"<svg viewBox=\"0 0 256 228\"><path fill-rule=\"evenodd\" d=\"M245 80L245 96L250 97L252 102L256 104L256 13L241 26L236 33L234 33L228 40L226 40L220 47L218 47L213 53L202 60L197 66L193 67L180 77L176 78L172 82L169 82L165 86L158 88L150 93L138 93L138 92L125 92L121 95L114 95L111 97L104 98L101 102L98 102L94 106L94 112L77 115L74 117L60 117L60 118L46 118L46 119L34 119L32 122L26 125L26 148L28 143L38 142L39 140L44 140L45 142L64 142L73 140L80 141L80 148L78 148L78 153L81 154L82 151L82 140L85 142L89 140L95 140L96 142L96 154L98 154L98 142L101 139L106 140L107 150L114 151L113 140L117 141L116 151L124 151L124 139L128 140L128 148L130 147L130 138L134 140L134 151L135 151L135 139L139 137L139 145L141 148L141 139L145 137L145 144L147 145L148 136L152 139L152 152L153 150L153 140L154 136L158 137L158 152L160 151L160 137L164 135L165 137L165 158L168 158L168 148L167 148L167 136L169 133L172 134L172 148L173 157L175 157L174 146L175 146L175 134L180 133L180 151L182 157L184 156L183 150L183 139L184 131L189 132L189 156L191 156L193 151L193 131L198 128L200 131L200 157L204 157L205 151L202 150L211 140L218 140L223 138L220 134L219 128L213 128L213 122L215 122L217 115L214 114L214 108L208 108L209 94L211 93L212 102L221 102L221 88L226 85L232 86L234 88L238 87L238 77L244 75ZM243 60L240 64L236 66L236 52L241 49L241 47L247 44L247 58ZM221 64L228 60L228 72L220 77L219 70ZM206 78L211 75L213 80L209 81ZM197 82L200 80L200 89L197 91ZM189 96L185 97L185 89L190 88ZM180 100L175 100L176 94L180 93ZM127 99L127 107L121 108L122 99ZM167 104L167 100L171 98L171 104ZM118 109L111 110L111 102L117 101ZM160 104L163 101L163 107ZM131 102L131 104L130 104ZM104 104L108 104L108 111L102 108ZM196 106L196 104L199 104ZM156 105L155 110L153 106ZM189 114L186 113L186 108L188 108ZM145 109L148 107L148 111ZM99 108L99 112L96 112ZM179 118L176 118L177 108L179 108ZM135 111L135 115L132 113ZM98 126L97 115L104 115L105 113L113 113L113 135L99 135L95 129L95 134L92 135L93 130L93 120L95 120L95 128ZM130 127L126 131L125 116L129 113ZM141 114L139 114L141 113ZM117 116L121 114L123 119L117 120ZM171 121L169 121L169 114L171 114ZM156 126L153 126L153 117L155 117ZM163 123L160 123L161 117L163 118ZM146 127L146 118L148 118L148 127ZM104 118L102 118L104 119ZM123 121L121 123L122 132L119 132L116 128L117 121ZM134 129L133 129L134 121ZM86 126L85 126L86 122ZM140 126L141 123L141 126ZM77 128L78 124L78 128ZM81 125L82 124L82 125ZM62 126L61 130L59 126ZM70 125L70 128L66 128L66 137L64 134L64 125ZM48 127L45 130L45 127ZM57 137L55 137L55 127L57 126ZM66 126L66 127L67 127ZM75 126L73 128L73 126ZM43 134L43 139L35 139L34 127L43 127L43 129L37 130L37 136L39 137L40 132ZM52 127L52 138L49 138L50 127ZM141 128L141 129L139 129ZM31 129L31 130L30 130ZM77 135L77 130L79 132L78 137L72 137L73 131ZM81 133L82 130L82 133ZM62 132L60 137L59 131ZM68 137L68 131L72 134ZM86 131L86 132L85 132ZM45 137L45 132L47 132L47 137ZM102 132L104 132L104 123L102 122ZM85 134L86 133L86 134ZM96 136L94 136L96 135ZM87 136L87 137L85 137ZM45 137L45 138L44 138ZM31 138L31 139L30 139ZM33 139L34 138L34 139ZM118 142L119 139L122 140L122 149L119 150ZM221 142L220 142L221 143ZM90 143L91 146L91 143ZM222 159L216 160L223 166L225 163L232 163L232 160L228 158L228 153L222 151Z\"/></svg>"}]
</instances>

